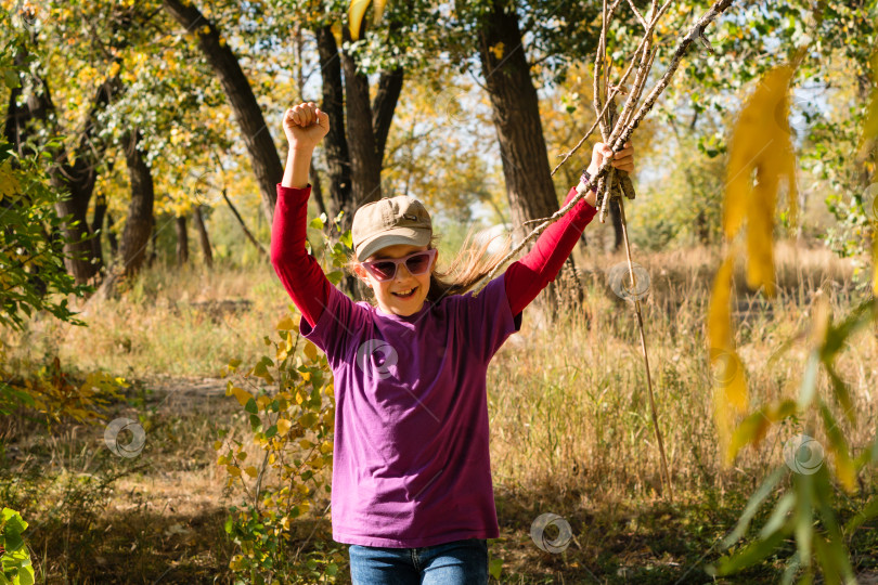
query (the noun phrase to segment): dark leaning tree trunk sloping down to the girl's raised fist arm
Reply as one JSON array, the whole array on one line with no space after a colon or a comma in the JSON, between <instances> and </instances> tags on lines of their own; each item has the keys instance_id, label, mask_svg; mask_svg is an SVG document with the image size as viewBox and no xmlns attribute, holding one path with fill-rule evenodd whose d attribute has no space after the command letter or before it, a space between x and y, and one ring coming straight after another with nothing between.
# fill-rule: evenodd
<instances>
[{"instance_id":1,"label":"dark leaning tree trunk sloping down to the girl's raised fist arm","mask_svg":"<svg viewBox=\"0 0 878 585\"><path fill-rule=\"evenodd\" d=\"M164 5L188 32L197 35L198 48L222 84L250 155L256 182L262 194L262 212L271 225L277 195L275 185L283 177L284 169L253 88L231 47L228 42L220 42L217 27L191 1L165 0ZM206 31L203 30L205 27Z\"/></svg>"}]
</instances>

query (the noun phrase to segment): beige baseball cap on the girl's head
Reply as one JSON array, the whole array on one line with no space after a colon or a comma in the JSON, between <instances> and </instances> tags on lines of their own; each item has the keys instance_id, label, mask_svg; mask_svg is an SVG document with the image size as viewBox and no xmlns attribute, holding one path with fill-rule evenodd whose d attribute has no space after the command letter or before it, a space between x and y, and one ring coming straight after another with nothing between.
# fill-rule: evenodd
<instances>
[{"instance_id":1,"label":"beige baseball cap on the girl's head","mask_svg":"<svg viewBox=\"0 0 878 585\"><path fill-rule=\"evenodd\" d=\"M426 246L432 222L424 205L405 195L387 197L362 206L353 214L353 252L360 261L387 246Z\"/></svg>"}]
</instances>

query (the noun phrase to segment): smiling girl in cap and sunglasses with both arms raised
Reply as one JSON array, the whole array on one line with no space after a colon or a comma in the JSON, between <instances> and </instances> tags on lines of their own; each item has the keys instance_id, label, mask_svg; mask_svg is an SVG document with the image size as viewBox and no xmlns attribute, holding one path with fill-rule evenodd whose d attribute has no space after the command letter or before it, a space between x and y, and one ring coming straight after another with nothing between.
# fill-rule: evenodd
<instances>
[{"instance_id":1,"label":"smiling girl in cap and sunglasses with both arms raised","mask_svg":"<svg viewBox=\"0 0 878 585\"><path fill-rule=\"evenodd\" d=\"M479 292L465 294L503 253L436 270L427 210L400 196L353 217L353 271L376 306L353 302L305 250L308 169L330 118L313 102L284 116L289 154L271 262L302 313L300 332L326 353L335 380L333 538L349 547L354 584L488 583L487 538L499 536L488 448L488 363L521 327L595 214L590 192L533 249ZM594 174L610 148L595 145ZM616 153L634 170L633 148ZM584 173L583 173L584 178ZM584 182L580 182L584 188ZM567 195L567 202L576 187ZM565 202L565 204L567 203Z\"/></svg>"}]
</instances>

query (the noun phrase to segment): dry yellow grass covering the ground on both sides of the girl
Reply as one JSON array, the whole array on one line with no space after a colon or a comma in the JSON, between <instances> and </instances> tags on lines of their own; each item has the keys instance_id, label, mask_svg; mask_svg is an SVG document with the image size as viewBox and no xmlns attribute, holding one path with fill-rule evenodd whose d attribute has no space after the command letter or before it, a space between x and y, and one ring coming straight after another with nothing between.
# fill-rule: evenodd
<instances>
[{"instance_id":1,"label":"dry yellow grass covering the ground on both sides of the girl","mask_svg":"<svg viewBox=\"0 0 878 585\"><path fill-rule=\"evenodd\" d=\"M703 248L638 252L635 259L651 277L644 320L676 491L673 505L660 497L633 311L605 282L606 270L623 255L591 253L578 258L586 309L548 327L529 308L521 333L489 369L491 464L502 531L491 554L504 559L504 580L511 583L703 582L699 559L734 523L764 470L783 463L780 445L801 426L773 430L731 469L720 465L705 347L707 300L720 256ZM780 244L777 263L776 299L747 291L741 270L736 277L738 343L753 404L796 395L806 348L799 342L786 352L778 349L808 330L815 292L829 296L836 315L856 298L851 264L829 252ZM135 582L142 576L151 583L228 578L231 545L221 523L231 500L223 499L210 443L218 427L240 431L243 425L233 415L236 403L221 396L221 381L203 378L216 376L232 356L246 362L261 355L262 336L288 302L268 265L214 273L156 266L121 301L87 306L88 328L40 322L14 338L20 365L57 351L68 367L138 380L115 416L145 416L149 429L150 444L139 459L146 466L122 468L112 493L95 504L100 514L86 524L87 534L102 531L102 538L83 548L90 564L76 564L85 561L70 552L70 541L65 545L63 534L43 530L35 551L50 581L63 582L74 569L82 583L121 583L133 573ZM876 428L876 363L874 332L853 339L839 361L857 401L861 424L850 433L857 447ZM15 434L25 437L25 430ZM49 474L91 469L95 464L87 459L100 448L100 429L87 434L44 445L36 460L48 465ZM86 458L62 465L60 452ZM873 478L864 478L864 485L874 485ZM577 535L565 555L541 552L530 542L530 523L546 511L568 519ZM874 550L874 543L869 546L855 550L861 561ZM72 564L62 568L53 556Z\"/></svg>"}]
</instances>

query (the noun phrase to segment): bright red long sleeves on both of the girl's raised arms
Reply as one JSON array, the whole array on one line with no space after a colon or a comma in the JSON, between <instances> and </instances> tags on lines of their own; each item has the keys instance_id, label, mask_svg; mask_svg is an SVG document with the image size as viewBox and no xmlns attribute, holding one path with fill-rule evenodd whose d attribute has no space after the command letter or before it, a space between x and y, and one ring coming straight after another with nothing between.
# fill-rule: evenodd
<instances>
[{"instance_id":1,"label":"bright red long sleeves on both of the girl's raised arms","mask_svg":"<svg viewBox=\"0 0 878 585\"><path fill-rule=\"evenodd\" d=\"M301 188L277 184L277 203L271 229L271 263L293 302L313 327L326 307L332 283L326 280L314 257L305 249L310 194L310 184ZM574 195L576 187L572 187L564 205ZM568 213L540 235L527 255L509 264L506 269L506 296L513 315L524 311L540 290L555 280L582 230L596 212L584 198L580 199Z\"/></svg>"}]
</instances>

